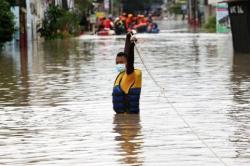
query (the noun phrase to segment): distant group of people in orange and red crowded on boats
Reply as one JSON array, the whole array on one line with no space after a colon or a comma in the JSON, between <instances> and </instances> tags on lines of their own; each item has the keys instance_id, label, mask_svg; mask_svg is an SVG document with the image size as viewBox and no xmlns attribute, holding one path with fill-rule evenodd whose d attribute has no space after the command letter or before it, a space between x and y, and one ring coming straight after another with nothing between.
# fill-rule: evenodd
<instances>
[{"instance_id":1,"label":"distant group of people in orange and red crowded on boats","mask_svg":"<svg viewBox=\"0 0 250 166\"><path fill-rule=\"evenodd\" d=\"M123 13L117 18L113 16L98 18L97 34L101 35L112 31L116 35L121 35L131 30L136 30L138 33L159 32L158 25L153 22L151 16Z\"/></svg>"}]
</instances>

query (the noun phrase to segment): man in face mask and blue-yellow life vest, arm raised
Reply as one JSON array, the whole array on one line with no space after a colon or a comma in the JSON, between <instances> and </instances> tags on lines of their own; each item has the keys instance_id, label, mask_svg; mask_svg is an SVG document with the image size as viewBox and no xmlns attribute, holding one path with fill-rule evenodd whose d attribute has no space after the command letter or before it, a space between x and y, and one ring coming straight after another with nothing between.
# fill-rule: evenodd
<instances>
[{"instance_id":1,"label":"man in face mask and blue-yellow life vest, arm raised","mask_svg":"<svg viewBox=\"0 0 250 166\"><path fill-rule=\"evenodd\" d=\"M116 56L119 72L113 88L113 108L116 113L138 114L141 94L141 70L134 69L134 47L136 38L132 32L126 37L124 52Z\"/></svg>"}]
</instances>

